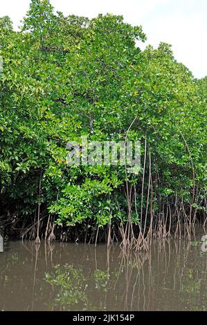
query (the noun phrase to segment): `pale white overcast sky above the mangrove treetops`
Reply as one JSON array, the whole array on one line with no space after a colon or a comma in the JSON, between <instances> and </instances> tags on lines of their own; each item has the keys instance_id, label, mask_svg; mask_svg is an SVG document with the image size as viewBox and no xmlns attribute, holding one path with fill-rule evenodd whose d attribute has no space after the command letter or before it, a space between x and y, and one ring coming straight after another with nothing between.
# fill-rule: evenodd
<instances>
[{"instance_id":1,"label":"pale white overcast sky above the mangrove treetops","mask_svg":"<svg viewBox=\"0 0 207 325\"><path fill-rule=\"evenodd\" d=\"M0 17L8 15L15 29L29 8L30 0L0 0ZM143 26L147 44L172 44L177 61L197 78L207 75L207 0L51 0L64 15L96 17L107 12L123 15L134 26Z\"/></svg>"}]
</instances>

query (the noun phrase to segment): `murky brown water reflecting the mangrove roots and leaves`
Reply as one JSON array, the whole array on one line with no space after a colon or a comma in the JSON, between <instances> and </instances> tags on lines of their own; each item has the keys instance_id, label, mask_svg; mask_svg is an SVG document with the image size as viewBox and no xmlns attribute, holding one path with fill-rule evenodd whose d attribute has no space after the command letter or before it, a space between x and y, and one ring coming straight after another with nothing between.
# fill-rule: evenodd
<instances>
[{"instance_id":1,"label":"murky brown water reflecting the mangrove roots and leaves","mask_svg":"<svg viewBox=\"0 0 207 325\"><path fill-rule=\"evenodd\" d=\"M207 310L207 252L166 241L151 252L114 245L7 243L0 310Z\"/></svg>"}]
</instances>

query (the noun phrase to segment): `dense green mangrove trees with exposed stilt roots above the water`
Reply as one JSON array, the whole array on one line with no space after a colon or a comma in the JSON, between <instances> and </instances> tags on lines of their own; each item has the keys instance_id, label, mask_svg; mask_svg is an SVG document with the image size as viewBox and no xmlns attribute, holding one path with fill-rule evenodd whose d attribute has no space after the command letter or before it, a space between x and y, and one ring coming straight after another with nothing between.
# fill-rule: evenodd
<instances>
[{"instance_id":1,"label":"dense green mangrove trees with exposed stilt roots above the water","mask_svg":"<svg viewBox=\"0 0 207 325\"><path fill-rule=\"evenodd\" d=\"M206 223L206 86L123 17L32 0L0 19L1 223L10 236L147 248ZM141 140L141 170L66 165L66 143ZM182 228L183 225L183 228Z\"/></svg>"}]
</instances>

